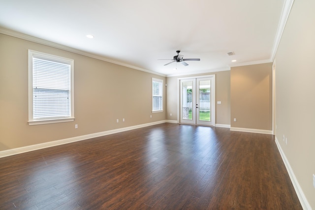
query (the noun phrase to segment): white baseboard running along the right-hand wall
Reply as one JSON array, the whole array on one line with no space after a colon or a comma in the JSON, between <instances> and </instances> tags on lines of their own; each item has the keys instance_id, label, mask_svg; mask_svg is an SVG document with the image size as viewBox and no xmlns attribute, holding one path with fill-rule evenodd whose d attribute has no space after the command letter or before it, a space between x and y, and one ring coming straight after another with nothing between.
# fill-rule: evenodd
<instances>
[{"instance_id":1,"label":"white baseboard running along the right-hand wall","mask_svg":"<svg viewBox=\"0 0 315 210\"><path fill-rule=\"evenodd\" d=\"M291 182L292 182L292 184L293 184L293 187L294 187L294 189L295 189L295 192L296 192L296 194L297 194L297 197L298 197L299 200L300 200L300 203L301 203L301 206L302 206L303 210L312 210L311 205L310 205L309 202L307 201L307 199L306 199L306 197L305 197L305 195L304 195L304 193L303 193L303 190L302 190L302 188L301 188L299 182L297 181L297 179L296 179L296 177L295 177L295 175L294 175L294 173L293 173L293 170L292 170L292 168L291 168L291 166L290 166L289 161L286 159L286 156L285 156L285 154L284 154L284 151L282 150L282 148L281 148L281 146L280 146L280 143L279 143L277 137L276 137L275 142L276 142L276 145L277 145L277 147L278 147L278 150L279 150L279 152L280 152L280 154L281 154L282 160L284 161L284 165L285 165L286 171L287 171L288 174L289 174L290 180L291 180Z\"/></svg>"}]
</instances>

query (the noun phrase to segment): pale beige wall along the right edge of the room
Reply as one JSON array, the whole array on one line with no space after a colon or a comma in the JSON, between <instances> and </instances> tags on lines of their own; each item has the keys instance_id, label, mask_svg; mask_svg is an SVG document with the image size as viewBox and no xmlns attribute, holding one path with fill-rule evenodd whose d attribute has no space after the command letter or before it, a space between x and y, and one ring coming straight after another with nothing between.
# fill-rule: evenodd
<instances>
[{"instance_id":1,"label":"pale beige wall along the right edge of the room","mask_svg":"<svg viewBox=\"0 0 315 210\"><path fill-rule=\"evenodd\" d=\"M314 11L314 0L294 1L275 59L276 138L312 209L315 209Z\"/></svg>"}]
</instances>

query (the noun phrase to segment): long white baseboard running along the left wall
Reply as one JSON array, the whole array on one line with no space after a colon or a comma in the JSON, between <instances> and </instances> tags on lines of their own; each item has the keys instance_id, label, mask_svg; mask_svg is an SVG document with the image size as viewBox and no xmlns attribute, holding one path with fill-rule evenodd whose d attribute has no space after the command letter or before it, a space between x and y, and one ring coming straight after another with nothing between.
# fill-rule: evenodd
<instances>
[{"instance_id":1,"label":"long white baseboard running along the left wall","mask_svg":"<svg viewBox=\"0 0 315 210\"><path fill-rule=\"evenodd\" d=\"M123 131L127 131L127 130L133 130L136 128L156 125L156 124L164 123L166 121L167 120L161 120L161 121L150 122L150 123L145 123L145 124L140 124L140 125L134 125L134 126L130 126L130 127L119 128L119 129L115 129L115 130L108 130L108 131L103 131L103 132L98 132L98 133L87 134L87 135L83 135L83 136L71 137L71 138L52 141L52 142L45 142L42 144L30 145L30 146L20 147L20 148L14 148L11 150L3 150L3 151L0 151L0 158L14 155L14 154L20 154L20 153L24 153L24 152L28 152L28 151L40 150L40 149L44 149L44 148L68 144L71 142L77 142L77 141L82 141L82 140L86 140L86 139L92 139L92 138L99 137L99 136L106 136L109 134L119 133L119 132L123 132Z\"/></svg>"}]
</instances>

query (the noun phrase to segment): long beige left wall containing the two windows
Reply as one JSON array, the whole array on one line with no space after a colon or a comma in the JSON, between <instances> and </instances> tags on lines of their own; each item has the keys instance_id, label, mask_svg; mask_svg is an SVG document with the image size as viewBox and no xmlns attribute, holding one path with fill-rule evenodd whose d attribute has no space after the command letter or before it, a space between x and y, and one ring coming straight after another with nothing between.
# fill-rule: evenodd
<instances>
[{"instance_id":1,"label":"long beige left wall containing the two windows","mask_svg":"<svg viewBox=\"0 0 315 210\"><path fill-rule=\"evenodd\" d=\"M29 49L74 60L75 121L28 125ZM166 82L158 75L0 33L0 150L165 120L165 111L151 112L152 77Z\"/></svg>"}]
</instances>

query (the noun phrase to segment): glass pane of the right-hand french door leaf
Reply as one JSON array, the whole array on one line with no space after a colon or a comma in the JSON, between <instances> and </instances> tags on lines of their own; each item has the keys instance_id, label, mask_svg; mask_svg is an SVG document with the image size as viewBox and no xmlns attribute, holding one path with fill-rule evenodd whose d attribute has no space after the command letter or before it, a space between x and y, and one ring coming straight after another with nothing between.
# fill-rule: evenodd
<instances>
[{"instance_id":1,"label":"glass pane of the right-hand french door leaf","mask_svg":"<svg viewBox=\"0 0 315 210\"><path fill-rule=\"evenodd\" d=\"M199 120L210 121L210 80L199 81Z\"/></svg>"}]
</instances>

